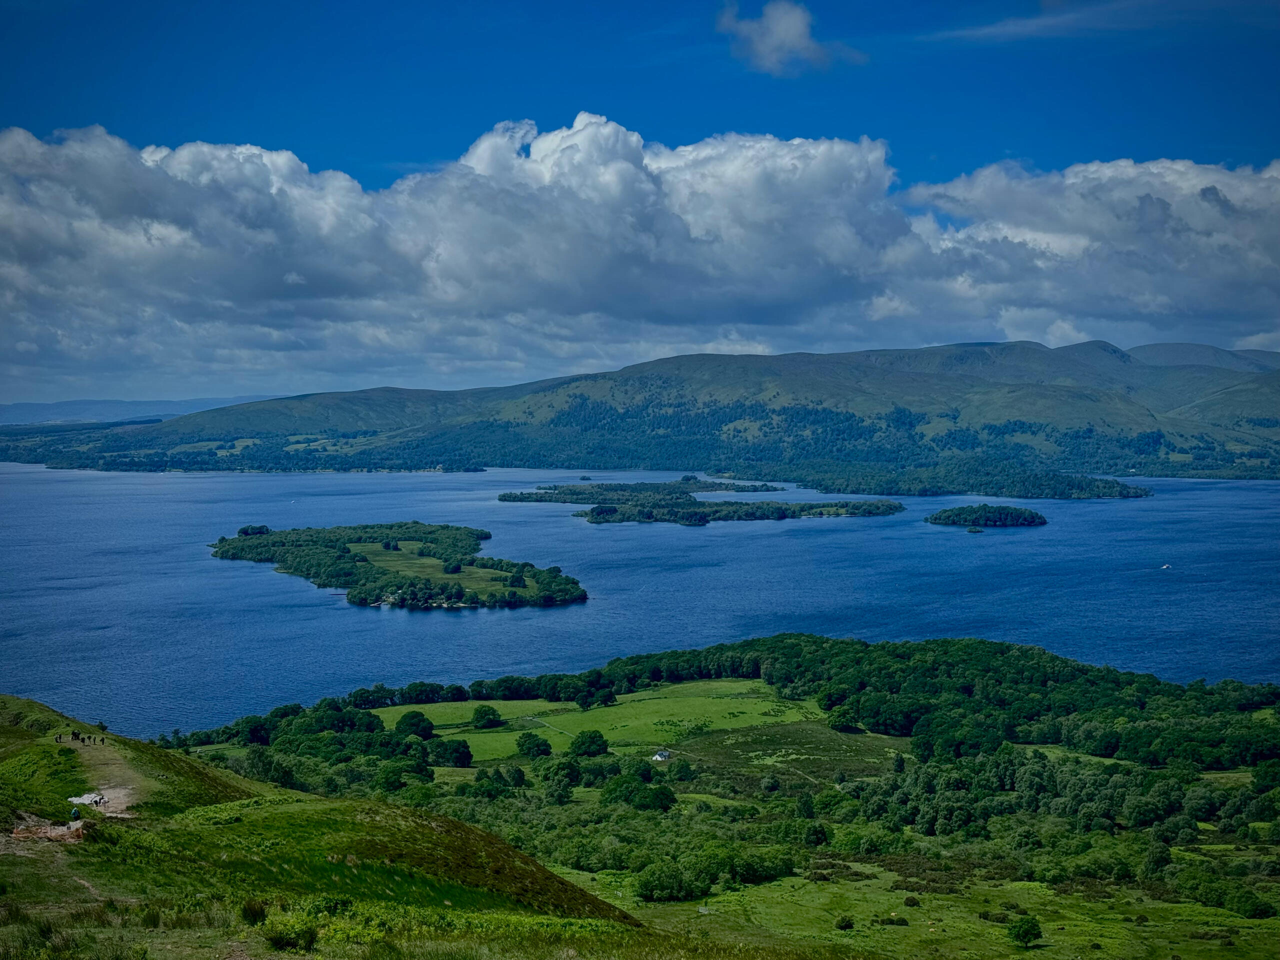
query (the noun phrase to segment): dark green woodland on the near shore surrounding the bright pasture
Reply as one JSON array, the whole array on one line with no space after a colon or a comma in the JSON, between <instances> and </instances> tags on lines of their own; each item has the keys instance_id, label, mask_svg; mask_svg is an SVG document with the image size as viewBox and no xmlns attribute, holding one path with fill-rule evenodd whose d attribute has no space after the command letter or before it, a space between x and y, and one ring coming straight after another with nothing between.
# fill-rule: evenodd
<instances>
[{"instance_id":1,"label":"dark green woodland on the near shore surrounding the bright pasture","mask_svg":"<svg viewBox=\"0 0 1280 960\"><path fill-rule=\"evenodd\" d=\"M751 727L745 740L671 727L669 762L630 741L611 749L602 732L625 701L660 704L681 685L733 678L767 685L801 712L796 722ZM591 728L554 751L540 727L515 719L534 701L553 726L568 709ZM795 870L865 879L870 864L905 877L895 890L909 895L1019 879L1094 900L1138 888L1257 919L1280 905L1277 703L1270 684L1178 685L983 640L778 635L579 675L374 686L174 731L161 745L211 749L201 755L298 790L448 813L644 901L718 896ZM471 744L443 740L428 718L463 704L470 723L447 726L470 730ZM384 726L374 710L398 719ZM474 762L488 728L512 723L525 732L511 755ZM739 741L746 754L727 746ZM751 750L790 744L833 759L750 762ZM474 774L460 778L468 764ZM442 781L442 769L453 772Z\"/></svg>"}]
</instances>

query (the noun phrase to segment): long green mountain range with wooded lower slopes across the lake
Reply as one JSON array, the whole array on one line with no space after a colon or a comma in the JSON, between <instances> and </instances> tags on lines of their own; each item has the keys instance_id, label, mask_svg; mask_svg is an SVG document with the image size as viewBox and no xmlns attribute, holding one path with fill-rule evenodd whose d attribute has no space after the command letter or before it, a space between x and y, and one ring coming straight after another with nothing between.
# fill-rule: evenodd
<instances>
[{"instance_id":1,"label":"long green mountain range with wooded lower slopes across the lake","mask_svg":"<svg viewBox=\"0 0 1280 960\"><path fill-rule=\"evenodd\" d=\"M1280 476L1280 353L1094 340L692 355L515 387L303 394L99 434L0 436L0 456L106 470L701 468L833 492L1097 495L1047 477Z\"/></svg>"}]
</instances>

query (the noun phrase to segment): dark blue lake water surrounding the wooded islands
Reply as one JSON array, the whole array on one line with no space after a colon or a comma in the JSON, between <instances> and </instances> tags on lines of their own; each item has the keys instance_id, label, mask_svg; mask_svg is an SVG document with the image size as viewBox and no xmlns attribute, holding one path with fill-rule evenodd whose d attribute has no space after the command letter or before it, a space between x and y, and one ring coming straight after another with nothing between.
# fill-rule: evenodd
<instances>
[{"instance_id":1,"label":"dark blue lake water surrounding the wooded islands","mask_svg":"<svg viewBox=\"0 0 1280 960\"><path fill-rule=\"evenodd\" d=\"M0 463L0 690L151 736L379 681L580 671L781 631L983 636L1176 681L1280 681L1280 484L1149 480L1156 495L1140 500L1021 502L1048 526L980 535L920 521L1000 500L904 498L906 512L893 517L707 527L590 525L570 516L571 504L497 500L577 477ZM741 497L753 498L840 499ZM486 553L557 563L591 599L556 609L361 609L268 564L209 556L209 543L242 524L396 520L490 530Z\"/></svg>"}]
</instances>

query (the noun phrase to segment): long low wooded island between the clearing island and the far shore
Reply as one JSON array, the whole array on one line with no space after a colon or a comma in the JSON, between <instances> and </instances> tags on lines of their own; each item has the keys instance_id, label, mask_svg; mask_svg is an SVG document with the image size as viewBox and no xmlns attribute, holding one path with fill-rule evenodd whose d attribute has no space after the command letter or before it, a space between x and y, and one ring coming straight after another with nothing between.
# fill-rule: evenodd
<instances>
[{"instance_id":1,"label":"long low wooded island between the clearing island and the far shore","mask_svg":"<svg viewBox=\"0 0 1280 960\"><path fill-rule=\"evenodd\" d=\"M778 500L699 500L695 493L774 493L781 486L698 480L686 475L664 484L564 484L539 486L532 493L502 493L506 503L591 503L573 513L589 524L681 524L705 526L724 520L796 520L799 517L886 517L904 507L895 500L835 500L780 503Z\"/></svg>"}]
</instances>

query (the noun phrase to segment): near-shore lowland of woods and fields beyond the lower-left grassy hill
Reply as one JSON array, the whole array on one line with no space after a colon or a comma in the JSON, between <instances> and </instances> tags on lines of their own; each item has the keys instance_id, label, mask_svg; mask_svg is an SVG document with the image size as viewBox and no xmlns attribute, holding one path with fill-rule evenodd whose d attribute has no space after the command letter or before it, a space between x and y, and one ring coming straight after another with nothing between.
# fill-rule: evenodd
<instances>
[{"instance_id":1,"label":"near-shore lowland of woods and fields beyond the lower-left grassy hill","mask_svg":"<svg viewBox=\"0 0 1280 960\"><path fill-rule=\"evenodd\" d=\"M375 686L169 745L466 820L657 931L748 952L996 960L1034 922L1044 957L1261 959L1277 704L1011 644L783 634ZM467 764L404 780L444 737Z\"/></svg>"}]
</instances>

